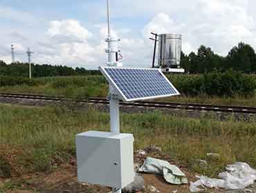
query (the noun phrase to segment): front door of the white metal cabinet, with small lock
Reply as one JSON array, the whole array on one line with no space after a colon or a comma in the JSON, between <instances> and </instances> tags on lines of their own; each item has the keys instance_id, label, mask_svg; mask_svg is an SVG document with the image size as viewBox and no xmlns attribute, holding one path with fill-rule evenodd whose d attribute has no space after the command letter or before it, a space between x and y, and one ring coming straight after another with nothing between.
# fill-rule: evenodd
<instances>
[{"instance_id":1,"label":"front door of the white metal cabinet, with small lock","mask_svg":"<svg viewBox=\"0 0 256 193\"><path fill-rule=\"evenodd\" d=\"M120 187L120 141L77 137L78 181Z\"/></svg>"}]
</instances>

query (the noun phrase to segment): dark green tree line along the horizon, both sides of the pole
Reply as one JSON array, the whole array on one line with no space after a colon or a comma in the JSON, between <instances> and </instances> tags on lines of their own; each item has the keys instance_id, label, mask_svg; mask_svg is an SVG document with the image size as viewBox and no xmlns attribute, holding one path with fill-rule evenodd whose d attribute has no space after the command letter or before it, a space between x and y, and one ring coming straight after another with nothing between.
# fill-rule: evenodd
<instances>
[{"instance_id":1,"label":"dark green tree line along the horizon, both sides of the pole","mask_svg":"<svg viewBox=\"0 0 256 193\"><path fill-rule=\"evenodd\" d=\"M85 68L71 68L64 65L32 64L33 77L67 77L77 75L100 74L99 70L86 70ZM201 45L197 53L188 55L181 53L181 67L186 73L205 74L209 72L226 72L234 70L246 74L256 73L256 54L253 48L246 43L239 43L233 47L226 57L214 53L211 48ZM2 77L28 77L28 63L11 63L0 61L0 76Z\"/></svg>"}]
</instances>

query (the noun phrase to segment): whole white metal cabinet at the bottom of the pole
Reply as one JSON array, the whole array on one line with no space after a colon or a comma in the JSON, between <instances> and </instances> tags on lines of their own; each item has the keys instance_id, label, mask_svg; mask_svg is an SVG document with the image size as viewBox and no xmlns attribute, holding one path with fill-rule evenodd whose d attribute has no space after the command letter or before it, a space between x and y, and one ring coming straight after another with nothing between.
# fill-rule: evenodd
<instances>
[{"instance_id":1,"label":"whole white metal cabinet at the bottom of the pole","mask_svg":"<svg viewBox=\"0 0 256 193\"><path fill-rule=\"evenodd\" d=\"M84 132L76 136L78 181L122 188L134 180L132 134Z\"/></svg>"}]
</instances>

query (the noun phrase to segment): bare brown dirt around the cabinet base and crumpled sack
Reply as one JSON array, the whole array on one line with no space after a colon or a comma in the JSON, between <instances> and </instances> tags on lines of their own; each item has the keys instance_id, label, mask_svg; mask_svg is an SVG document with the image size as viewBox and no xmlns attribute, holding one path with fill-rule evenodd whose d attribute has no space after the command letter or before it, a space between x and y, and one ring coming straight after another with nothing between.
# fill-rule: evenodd
<instances>
[{"instance_id":1,"label":"bare brown dirt around the cabinet base and crumpled sack","mask_svg":"<svg viewBox=\"0 0 256 193\"><path fill-rule=\"evenodd\" d=\"M10 148L9 148L10 150ZM151 150L148 150L150 152ZM18 152L11 151L13 154L9 157L11 163L15 159L15 154ZM147 156L152 156L156 159L165 159L172 164L175 164L167 155L162 154L161 151L153 150L147 155L134 154L134 162L142 165ZM19 170L20 167L13 165L15 170ZM183 165L179 165L181 170L188 176L189 181L194 181L194 175L190 172L186 172L186 168ZM46 193L75 193L75 192L88 192L88 193L105 193L111 190L108 187L100 187L98 185L89 185L87 183L77 182L77 166L75 160L70 161L64 165L60 165L57 170L51 173L36 172L35 174L22 174L12 175L11 179L0 178L0 193L1 186L8 184L8 191L6 193L30 193L30 192L46 192ZM166 183L163 176L155 174L142 174L145 180L145 187L153 185L162 193L170 193L175 190L185 193L190 192L188 185L170 185Z\"/></svg>"}]
</instances>

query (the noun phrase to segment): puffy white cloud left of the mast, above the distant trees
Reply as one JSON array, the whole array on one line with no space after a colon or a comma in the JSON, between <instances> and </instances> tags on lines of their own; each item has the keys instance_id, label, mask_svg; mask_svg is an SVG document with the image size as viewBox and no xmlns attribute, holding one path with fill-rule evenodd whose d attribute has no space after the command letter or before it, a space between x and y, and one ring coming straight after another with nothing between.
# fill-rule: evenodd
<instances>
[{"instance_id":1,"label":"puffy white cloud left of the mast, above the distant trees","mask_svg":"<svg viewBox=\"0 0 256 193\"><path fill-rule=\"evenodd\" d=\"M46 34L49 39L39 43L42 49L35 56L37 61L73 67L88 65L95 61L95 49L89 43L93 34L80 22L74 19L51 21Z\"/></svg>"}]
</instances>

